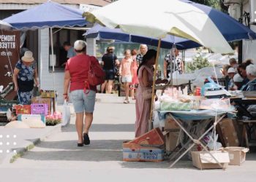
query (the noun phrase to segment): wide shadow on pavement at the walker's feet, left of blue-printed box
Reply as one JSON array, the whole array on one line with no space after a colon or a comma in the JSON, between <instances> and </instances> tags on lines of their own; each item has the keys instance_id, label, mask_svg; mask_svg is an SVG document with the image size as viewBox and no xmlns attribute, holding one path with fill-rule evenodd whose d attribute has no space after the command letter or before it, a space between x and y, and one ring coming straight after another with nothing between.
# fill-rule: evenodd
<instances>
[{"instance_id":1,"label":"wide shadow on pavement at the walker's feet, left of blue-printed box","mask_svg":"<svg viewBox=\"0 0 256 182\"><path fill-rule=\"evenodd\" d=\"M76 141L42 141L37 150L28 151L22 158L31 160L67 161L121 161L123 141L91 141L91 145L78 147ZM50 149L45 151L44 149Z\"/></svg>"}]
</instances>

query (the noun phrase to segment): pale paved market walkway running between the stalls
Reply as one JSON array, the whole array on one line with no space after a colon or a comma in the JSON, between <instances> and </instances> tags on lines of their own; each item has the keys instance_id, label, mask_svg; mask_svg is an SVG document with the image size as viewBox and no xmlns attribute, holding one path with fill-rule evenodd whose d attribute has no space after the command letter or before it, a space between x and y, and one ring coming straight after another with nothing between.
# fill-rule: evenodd
<instances>
[{"instance_id":1,"label":"pale paved market walkway running between the stalls","mask_svg":"<svg viewBox=\"0 0 256 182\"><path fill-rule=\"evenodd\" d=\"M1 165L0 181L255 181L255 154L248 154L241 167L225 171L197 170L190 161L173 169L168 169L168 162L122 162L121 144L134 137L135 104L121 101L109 95L97 102L90 146L76 146L73 117L62 132L13 164Z\"/></svg>"}]
</instances>

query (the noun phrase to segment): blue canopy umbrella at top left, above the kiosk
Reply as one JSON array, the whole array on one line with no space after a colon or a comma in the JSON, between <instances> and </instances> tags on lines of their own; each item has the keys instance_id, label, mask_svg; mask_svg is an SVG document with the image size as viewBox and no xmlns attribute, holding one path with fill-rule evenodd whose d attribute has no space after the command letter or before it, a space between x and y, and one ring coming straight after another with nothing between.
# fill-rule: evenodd
<instances>
[{"instance_id":1,"label":"blue canopy umbrella at top left, above the kiosk","mask_svg":"<svg viewBox=\"0 0 256 182\"><path fill-rule=\"evenodd\" d=\"M83 12L52 1L40 4L26 11L5 18L3 21L10 23L18 30L38 29L47 27L73 27L87 24L82 16Z\"/></svg>"}]
</instances>

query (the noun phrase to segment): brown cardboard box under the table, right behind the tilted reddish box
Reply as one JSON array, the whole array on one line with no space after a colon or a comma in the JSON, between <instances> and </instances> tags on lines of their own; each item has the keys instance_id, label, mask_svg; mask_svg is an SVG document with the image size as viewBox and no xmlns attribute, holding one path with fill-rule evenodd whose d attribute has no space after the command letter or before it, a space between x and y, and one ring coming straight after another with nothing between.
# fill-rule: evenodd
<instances>
[{"instance_id":1,"label":"brown cardboard box under the table, right behind the tilted reddish box","mask_svg":"<svg viewBox=\"0 0 256 182\"><path fill-rule=\"evenodd\" d=\"M165 149L166 151L175 151L178 146L179 131L177 132L165 132Z\"/></svg>"}]
</instances>

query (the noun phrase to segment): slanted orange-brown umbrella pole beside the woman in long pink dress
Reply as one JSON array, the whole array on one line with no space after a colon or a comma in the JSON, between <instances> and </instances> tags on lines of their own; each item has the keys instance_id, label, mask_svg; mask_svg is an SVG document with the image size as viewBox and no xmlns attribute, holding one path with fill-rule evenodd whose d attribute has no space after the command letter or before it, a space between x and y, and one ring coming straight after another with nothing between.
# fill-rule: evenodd
<instances>
[{"instance_id":1,"label":"slanted orange-brown umbrella pole beside the woman in long pink dress","mask_svg":"<svg viewBox=\"0 0 256 182\"><path fill-rule=\"evenodd\" d=\"M153 109L154 109L154 96L155 96L155 86L156 86L156 77L157 77L157 67L158 67L158 58L160 54L160 45L161 45L161 39L158 40L158 46L157 46L157 58L156 58L156 64L154 69L154 77L153 77L153 86L152 86L152 98L151 98L151 109L150 109L150 117L148 121L148 131L152 129L152 118L153 118Z\"/></svg>"}]
</instances>

